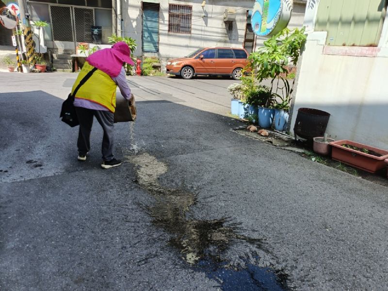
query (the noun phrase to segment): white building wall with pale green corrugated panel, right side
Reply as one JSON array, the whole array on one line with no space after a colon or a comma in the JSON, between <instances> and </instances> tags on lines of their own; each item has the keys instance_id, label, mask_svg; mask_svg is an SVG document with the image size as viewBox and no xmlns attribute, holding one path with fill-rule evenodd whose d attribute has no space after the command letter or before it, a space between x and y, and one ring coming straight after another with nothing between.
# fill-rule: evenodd
<instances>
[{"instance_id":1,"label":"white building wall with pale green corrugated panel, right side","mask_svg":"<svg viewBox=\"0 0 388 291\"><path fill-rule=\"evenodd\" d=\"M309 0L291 131L298 109L331 114L326 132L388 149L387 0Z\"/></svg>"}]
</instances>

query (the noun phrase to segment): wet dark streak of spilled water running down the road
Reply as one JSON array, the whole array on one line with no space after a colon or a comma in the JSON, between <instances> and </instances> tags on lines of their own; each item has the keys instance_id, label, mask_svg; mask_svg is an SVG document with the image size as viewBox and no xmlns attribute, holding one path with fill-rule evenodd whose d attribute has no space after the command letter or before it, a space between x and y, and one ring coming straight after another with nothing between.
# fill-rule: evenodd
<instances>
[{"instance_id":1,"label":"wet dark streak of spilled water running down the road","mask_svg":"<svg viewBox=\"0 0 388 291\"><path fill-rule=\"evenodd\" d=\"M169 245L178 249L181 257L198 272L217 281L223 291L286 291L287 275L260 262L255 251L263 251L259 239L239 234L239 224L231 219L195 220L188 217L190 207L197 202L197 194L184 188L169 189L159 183L167 166L155 157L144 153L129 156L137 166L137 183L147 190L155 203L147 207L153 223L171 235ZM231 258L228 251L242 244L242 251ZM248 247L247 247L248 246ZM264 264L265 265L265 264Z\"/></svg>"}]
</instances>

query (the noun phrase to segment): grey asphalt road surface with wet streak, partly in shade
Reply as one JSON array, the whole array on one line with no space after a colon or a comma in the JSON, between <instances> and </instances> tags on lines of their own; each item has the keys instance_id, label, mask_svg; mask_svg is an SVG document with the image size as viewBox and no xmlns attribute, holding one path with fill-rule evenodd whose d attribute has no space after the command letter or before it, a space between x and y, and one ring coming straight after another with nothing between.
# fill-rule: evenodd
<instances>
[{"instance_id":1,"label":"grey asphalt road surface with wet streak, partly in shade","mask_svg":"<svg viewBox=\"0 0 388 291\"><path fill-rule=\"evenodd\" d=\"M388 189L230 130L227 79L130 77L77 161L75 74L0 73L0 290L388 290Z\"/></svg>"}]
</instances>

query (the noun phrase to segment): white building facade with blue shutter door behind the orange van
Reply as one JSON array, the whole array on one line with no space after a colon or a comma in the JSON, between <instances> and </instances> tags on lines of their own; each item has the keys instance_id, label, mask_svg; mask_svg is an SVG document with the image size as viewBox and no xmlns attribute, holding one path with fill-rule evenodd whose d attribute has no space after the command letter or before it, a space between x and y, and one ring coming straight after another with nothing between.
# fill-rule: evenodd
<instances>
[{"instance_id":1,"label":"white building facade with blue shutter door behind the orange van","mask_svg":"<svg viewBox=\"0 0 388 291\"><path fill-rule=\"evenodd\" d=\"M250 24L253 0L130 0L122 3L123 35L136 40L135 55L183 57L202 47L243 47L257 40ZM303 25L306 1L294 0L290 27Z\"/></svg>"}]
</instances>

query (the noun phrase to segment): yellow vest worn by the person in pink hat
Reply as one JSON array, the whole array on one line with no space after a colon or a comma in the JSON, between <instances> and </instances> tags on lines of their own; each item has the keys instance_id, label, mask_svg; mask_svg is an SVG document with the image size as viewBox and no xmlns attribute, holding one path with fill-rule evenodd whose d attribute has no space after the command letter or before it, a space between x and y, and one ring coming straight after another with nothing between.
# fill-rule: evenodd
<instances>
[{"instance_id":1,"label":"yellow vest worn by the person in pink hat","mask_svg":"<svg viewBox=\"0 0 388 291\"><path fill-rule=\"evenodd\" d=\"M94 66L89 65L88 62L82 67L81 72L78 74L77 80L75 81L71 93L77 88L82 78L89 73ZM109 77L108 74L101 70L96 70L93 75L81 86L78 90L76 98L85 99L95 102L99 105L104 106L110 112L114 113L116 108L116 83Z\"/></svg>"}]
</instances>

